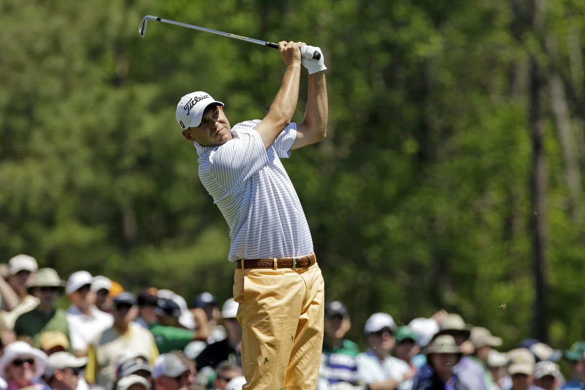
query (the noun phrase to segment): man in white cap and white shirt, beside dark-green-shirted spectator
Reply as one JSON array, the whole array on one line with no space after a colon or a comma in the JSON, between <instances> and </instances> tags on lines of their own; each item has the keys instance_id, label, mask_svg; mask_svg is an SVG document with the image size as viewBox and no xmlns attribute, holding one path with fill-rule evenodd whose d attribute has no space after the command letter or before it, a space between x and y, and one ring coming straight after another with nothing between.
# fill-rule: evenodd
<instances>
[{"instance_id":1,"label":"man in white cap and white shirt, beside dark-green-shirted spectator","mask_svg":"<svg viewBox=\"0 0 585 390\"><path fill-rule=\"evenodd\" d=\"M67 323L71 347L75 355L87 356L87 348L101 332L112 326L113 317L95 307L95 292L91 291L90 272L77 271L67 279L65 291L71 301Z\"/></svg>"}]
</instances>

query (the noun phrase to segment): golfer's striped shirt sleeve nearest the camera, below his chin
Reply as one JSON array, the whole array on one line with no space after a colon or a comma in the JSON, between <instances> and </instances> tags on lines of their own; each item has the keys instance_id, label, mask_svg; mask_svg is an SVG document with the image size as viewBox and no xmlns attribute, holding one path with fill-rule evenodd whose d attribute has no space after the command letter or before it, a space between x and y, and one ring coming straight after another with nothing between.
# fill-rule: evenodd
<instances>
[{"instance_id":1,"label":"golfer's striped shirt sleeve nearest the camera, below his chin","mask_svg":"<svg viewBox=\"0 0 585 390\"><path fill-rule=\"evenodd\" d=\"M256 130L226 142L209 155L209 165L219 184L230 194L269 164L264 144Z\"/></svg>"}]
</instances>

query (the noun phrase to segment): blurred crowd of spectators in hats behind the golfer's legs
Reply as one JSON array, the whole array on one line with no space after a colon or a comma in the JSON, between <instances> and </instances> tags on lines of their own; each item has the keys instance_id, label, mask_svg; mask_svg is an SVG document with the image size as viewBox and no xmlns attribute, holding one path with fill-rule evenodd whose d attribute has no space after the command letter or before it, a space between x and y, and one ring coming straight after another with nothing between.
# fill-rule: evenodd
<instances>
[{"instance_id":1,"label":"blurred crowd of spectators in hats behind the golfer's legs","mask_svg":"<svg viewBox=\"0 0 585 390\"><path fill-rule=\"evenodd\" d=\"M77 271L67 280L20 254L0 264L0 390L241 390L238 303L168 289L132 294ZM57 308L59 297L70 301ZM397 326L389 313L363 325L365 351L345 338L350 315L325 305L318 390L585 390L585 341L556 350L500 337L443 310ZM568 362L567 377L560 371ZM245 364L245 363L244 363ZM280 389L275 389L280 390Z\"/></svg>"}]
</instances>

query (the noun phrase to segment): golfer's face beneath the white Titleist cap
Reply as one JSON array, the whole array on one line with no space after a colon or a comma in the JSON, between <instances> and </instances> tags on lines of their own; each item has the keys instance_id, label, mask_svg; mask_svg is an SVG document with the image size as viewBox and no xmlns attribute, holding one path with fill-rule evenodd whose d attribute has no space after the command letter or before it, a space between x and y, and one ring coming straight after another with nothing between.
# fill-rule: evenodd
<instances>
[{"instance_id":1,"label":"golfer's face beneath the white Titleist cap","mask_svg":"<svg viewBox=\"0 0 585 390\"><path fill-rule=\"evenodd\" d=\"M201 124L191 127L191 134L201 146L215 146L232 139L228 118L223 115L222 106L207 106L201 118Z\"/></svg>"}]
</instances>

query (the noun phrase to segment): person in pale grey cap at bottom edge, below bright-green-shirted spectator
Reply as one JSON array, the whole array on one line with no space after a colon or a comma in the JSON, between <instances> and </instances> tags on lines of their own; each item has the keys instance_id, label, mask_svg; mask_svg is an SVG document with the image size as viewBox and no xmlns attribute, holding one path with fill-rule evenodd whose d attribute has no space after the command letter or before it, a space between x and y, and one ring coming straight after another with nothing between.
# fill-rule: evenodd
<instances>
[{"instance_id":1,"label":"person in pale grey cap at bottom edge, below bright-green-shirted spectator","mask_svg":"<svg viewBox=\"0 0 585 390\"><path fill-rule=\"evenodd\" d=\"M188 390L192 372L180 357L165 353L154 361L152 377L158 390Z\"/></svg>"}]
</instances>

